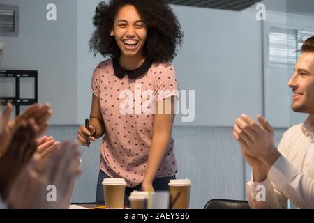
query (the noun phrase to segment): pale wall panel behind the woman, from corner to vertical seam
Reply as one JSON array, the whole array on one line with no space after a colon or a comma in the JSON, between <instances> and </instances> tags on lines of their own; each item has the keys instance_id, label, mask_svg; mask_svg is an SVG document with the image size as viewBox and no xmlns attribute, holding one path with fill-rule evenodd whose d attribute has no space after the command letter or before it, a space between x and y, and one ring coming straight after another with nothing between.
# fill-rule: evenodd
<instances>
[{"instance_id":1,"label":"pale wall panel behind the woman, from corner to vertical seam","mask_svg":"<svg viewBox=\"0 0 314 223\"><path fill-rule=\"evenodd\" d=\"M89 114L91 73L101 60L91 56L87 45L98 2L77 2L79 121ZM260 113L262 38L255 13L173 8L185 34L183 48L174 60L179 88L195 90L195 121L181 123L177 116L175 125L232 126L243 111Z\"/></svg>"}]
</instances>

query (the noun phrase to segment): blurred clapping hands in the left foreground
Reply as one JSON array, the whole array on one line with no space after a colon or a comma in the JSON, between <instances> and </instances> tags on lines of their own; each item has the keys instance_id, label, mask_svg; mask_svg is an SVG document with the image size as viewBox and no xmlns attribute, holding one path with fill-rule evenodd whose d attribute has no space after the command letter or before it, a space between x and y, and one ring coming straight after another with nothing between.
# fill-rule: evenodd
<instances>
[{"instance_id":1,"label":"blurred clapping hands in the left foreground","mask_svg":"<svg viewBox=\"0 0 314 223\"><path fill-rule=\"evenodd\" d=\"M48 128L50 105L32 105L10 121L11 112L8 104L0 117L0 208L68 208L80 175L77 144L37 139ZM47 185L56 186L57 202L47 201Z\"/></svg>"}]
</instances>

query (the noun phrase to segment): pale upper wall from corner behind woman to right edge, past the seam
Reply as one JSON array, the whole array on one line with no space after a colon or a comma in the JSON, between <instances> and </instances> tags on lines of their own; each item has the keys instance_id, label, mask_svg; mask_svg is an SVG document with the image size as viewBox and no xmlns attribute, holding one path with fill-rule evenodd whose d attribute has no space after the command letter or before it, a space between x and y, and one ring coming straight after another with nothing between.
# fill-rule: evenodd
<instances>
[{"instance_id":1,"label":"pale upper wall from corner behind woman to right edge, past the seam","mask_svg":"<svg viewBox=\"0 0 314 223\"><path fill-rule=\"evenodd\" d=\"M88 46L94 30L91 17L99 2L77 3L79 123L89 115L91 73L102 60L101 56L94 58ZM186 6L172 8L184 30L184 45L174 59L179 89L195 90L195 121L182 123L181 116L177 116L175 125L232 126L243 112L253 117L262 114L263 96L265 116L274 127L287 128L304 119L304 115L294 114L290 109L287 81L291 68L267 63L267 28L275 25L312 29L313 17L267 11L263 25L255 19L256 10L251 9L239 13Z\"/></svg>"}]
</instances>

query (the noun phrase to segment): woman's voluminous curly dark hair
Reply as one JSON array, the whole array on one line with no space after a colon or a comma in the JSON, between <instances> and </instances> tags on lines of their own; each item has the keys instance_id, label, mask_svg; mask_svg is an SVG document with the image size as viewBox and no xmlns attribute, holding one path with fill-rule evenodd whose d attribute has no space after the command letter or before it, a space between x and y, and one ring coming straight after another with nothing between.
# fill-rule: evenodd
<instances>
[{"instance_id":1,"label":"woman's voluminous curly dark hair","mask_svg":"<svg viewBox=\"0 0 314 223\"><path fill-rule=\"evenodd\" d=\"M110 36L114 26L114 18L119 9L125 5L133 5L147 25L147 40L143 46L143 55L156 63L170 63L177 55L177 47L181 47L183 32L170 6L163 0L111 0L101 2L93 18L96 30L89 41L91 52L100 53L110 58L120 56L121 52Z\"/></svg>"}]
</instances>

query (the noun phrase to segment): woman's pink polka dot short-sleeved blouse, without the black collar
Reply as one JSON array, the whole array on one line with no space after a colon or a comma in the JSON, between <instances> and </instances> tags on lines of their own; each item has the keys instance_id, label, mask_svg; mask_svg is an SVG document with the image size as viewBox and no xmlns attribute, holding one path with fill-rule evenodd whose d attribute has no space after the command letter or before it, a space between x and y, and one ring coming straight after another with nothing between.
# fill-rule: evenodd
<instances>
[{"instance_id":1,"label":"woman's pink polka dot short-sleeved blouse, without the black collar","mask_svg":"<svg viewBox=\"0 0 314 223\"><path fill-rule=\"evenodd\" d=\"M140 91L149 89L155 95L158 91L174 91L168 95L160 94L156 100L177 95L175 93L178 89L177 77L174 67L170 64L153 63L147 74L130 80L127 75L122 79L114 75L110 59L96 67L91 84L92 93L100 99L101 113L107 130L100 146L100 169L112 178L125 178L128 187L142 183L153 136L154 114L120 113L119 107L126 105L125 98L119 98L120 93L128 90L134 94L135 91L139 91L136 89L137 84L140 85ZM130 100L134 107L135 98ZM140 97L139 105L144 105L145 100L147 99ZM173 139L167 146L166 154L157 171L157 178L174 176L177 171Z\"/></svg>"}]
</instances>

